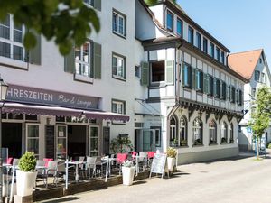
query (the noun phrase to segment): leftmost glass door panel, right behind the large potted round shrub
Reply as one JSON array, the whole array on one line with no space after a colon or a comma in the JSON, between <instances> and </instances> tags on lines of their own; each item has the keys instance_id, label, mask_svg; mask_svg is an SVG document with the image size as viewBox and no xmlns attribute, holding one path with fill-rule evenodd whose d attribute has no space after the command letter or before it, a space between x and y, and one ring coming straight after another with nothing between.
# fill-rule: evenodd
<instances>
[{"instance_id":1,"label":"leftmost glass door panel, right behind the large potted round shrub","mask_svg":"<svg viewBox=\"0 0 271 203\"><path fill-rule=\"evenodd\" d=\"M26 124L26 151L33 152L39 158L40 125Z\"/></svg>"}]
</instances>

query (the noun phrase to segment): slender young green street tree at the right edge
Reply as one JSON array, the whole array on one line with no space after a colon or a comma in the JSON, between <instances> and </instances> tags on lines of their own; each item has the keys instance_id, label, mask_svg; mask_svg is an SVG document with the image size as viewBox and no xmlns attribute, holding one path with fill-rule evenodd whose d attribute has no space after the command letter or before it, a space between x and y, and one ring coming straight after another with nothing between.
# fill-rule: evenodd
<instances>
[{"instance_id":1,"label":"slender young green street tree at the right edge","mask_svg":"<svg viewBox=\"0 0 271 203\"><path fill-rule=\"evenodd\" d=\"M253 102L255 111L251 114L248 125L252 128L257 143L257 159L259 158L259 141L270 124L271 90L268 87L257 89L256 100Z\"/></svg>"}]
</instances>

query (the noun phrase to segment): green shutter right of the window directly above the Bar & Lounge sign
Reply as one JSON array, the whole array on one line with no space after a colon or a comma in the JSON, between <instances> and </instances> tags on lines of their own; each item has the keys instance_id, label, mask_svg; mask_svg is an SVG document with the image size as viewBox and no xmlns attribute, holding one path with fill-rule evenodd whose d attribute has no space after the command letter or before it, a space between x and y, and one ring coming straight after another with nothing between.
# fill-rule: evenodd
<instances>
[{"instance_id":1,"label":"green shutter right of the window directly above the Bar & Lounge sign","mask_svg":"<svg viewBox=\"0 0 271 203\"><path fill-rule=\"evenodd\" d=\"M94 78L101 78L101 45L99 43L93 42L93 70Z\"/></svg>"}]
</instances>

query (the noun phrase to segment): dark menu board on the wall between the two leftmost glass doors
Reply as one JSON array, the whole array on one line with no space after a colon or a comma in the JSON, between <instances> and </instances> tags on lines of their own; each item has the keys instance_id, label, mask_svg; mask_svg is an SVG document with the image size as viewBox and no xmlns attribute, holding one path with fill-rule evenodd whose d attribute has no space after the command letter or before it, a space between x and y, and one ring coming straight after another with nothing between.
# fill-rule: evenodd
<instances>
[{"instance_id":1,"label":"dark menu board on the wall between the two leftmost glass doors","mask_svg":"<svg viewBox=\"0 0 271 203\"><path fill-rule=\"evenodd\" d=\"M45 143L46 143L46 158L54 158L55 140L54 140L54 125L45 125Z\"/></svg>"}]
</instances>

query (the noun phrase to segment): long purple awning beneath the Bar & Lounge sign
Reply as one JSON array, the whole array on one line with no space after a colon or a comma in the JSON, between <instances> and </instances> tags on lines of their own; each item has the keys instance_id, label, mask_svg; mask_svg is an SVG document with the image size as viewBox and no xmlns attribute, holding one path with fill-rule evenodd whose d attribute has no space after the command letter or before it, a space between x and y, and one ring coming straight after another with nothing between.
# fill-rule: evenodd
<instances>
[{"instance_id":1,"label":"long purple awning beneath the Bar & Lounge sign","mask_svg":"<svg viewBox=\"0 0 271 203\"><path fill-rule=\"evenodd\" d=\"M26 114L26 115L55 115L55 116L76 116L83 115L86 118L104 119L127 122L130 119L129 115L120 115L105 111L89 111L83 109L73 109L59 106L35 106L25 105L20 103L5 103L2 108L3 113Z\"/></svg>"}]
</instances>

